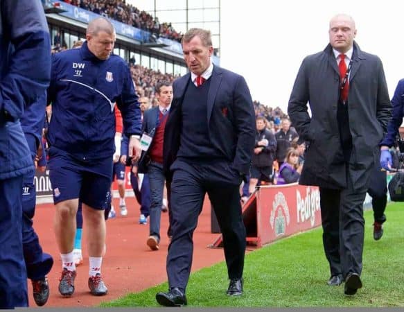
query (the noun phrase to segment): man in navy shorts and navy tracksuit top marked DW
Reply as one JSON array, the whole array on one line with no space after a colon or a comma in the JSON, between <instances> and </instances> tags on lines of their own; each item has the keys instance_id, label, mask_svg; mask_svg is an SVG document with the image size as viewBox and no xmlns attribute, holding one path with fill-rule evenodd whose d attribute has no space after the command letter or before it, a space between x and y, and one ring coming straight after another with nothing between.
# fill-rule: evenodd
<instances>
[{"instance_id":1,"label":"man in navy shorts and navy tracksuit top marked DW","mask_svg":"<svg viewBox=\"0 0 404 312\"><path fill-rule=\"evenodd\" d=\"M49 170L56 206L55 237L62 257L59 291L74 292L76 267L73 245L78 200L88 233L89 288L105 295L101 262L105 247L104 211L112 182L115 113L118 105L125 135L130 136L129 157L139 159L141 113L128 64L114 49L114 26L104 18L87 26L86 42L53 56L48 103Z\"/></svg>"}]
</instances>

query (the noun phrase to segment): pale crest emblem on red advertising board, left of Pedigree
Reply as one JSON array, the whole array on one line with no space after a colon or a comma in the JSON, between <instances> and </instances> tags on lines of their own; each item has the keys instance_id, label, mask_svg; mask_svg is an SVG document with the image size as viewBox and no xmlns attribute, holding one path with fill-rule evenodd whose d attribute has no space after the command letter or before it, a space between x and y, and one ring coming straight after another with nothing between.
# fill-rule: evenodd
<instances>
[{"instance_id":1,"label":"pale crest emblem on red advertising board, left of Pedigree","mask_svg":"<svg viewBox=\"0 0 404 312\"><path fill-rule=\"evenodd\" d=\"M283 193L278 192L272 202L270 225L275 230L276 236L286 233L286 225L290 223L288 203Z\"/></svg>"}]
</instances>

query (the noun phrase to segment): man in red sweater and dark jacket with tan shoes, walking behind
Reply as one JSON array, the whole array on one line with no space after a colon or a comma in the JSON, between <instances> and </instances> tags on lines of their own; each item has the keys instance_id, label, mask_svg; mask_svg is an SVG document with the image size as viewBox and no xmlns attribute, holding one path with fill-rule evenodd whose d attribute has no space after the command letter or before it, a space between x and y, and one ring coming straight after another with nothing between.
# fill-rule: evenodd
<instances>
[{"instance_id":1,"label":"man in red sweater and dark jacket with tan shoes, walking behind","mask_svg":"<svg viewBox=\"0 0 404 312\"><path fill-rule=\"evenodd\" d=\"M148 135L151 142L146 153L143 153L138 168L139 173L148 174L150 184L150 232L146 243L151 250L159 250L161 202L166 182L163 171L164 130L173 98L172 84L159 81L156 85L156 96L159 105L144 114L142 133L143 136Z\"/></svg>"}]
</instances>

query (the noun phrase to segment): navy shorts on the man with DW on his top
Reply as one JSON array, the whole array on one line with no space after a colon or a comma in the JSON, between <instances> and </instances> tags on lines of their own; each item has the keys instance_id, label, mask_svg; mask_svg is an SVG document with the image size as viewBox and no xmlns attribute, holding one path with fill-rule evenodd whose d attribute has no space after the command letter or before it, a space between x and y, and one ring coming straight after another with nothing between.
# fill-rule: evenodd
<instances>
[{"instance_id":1,"label":"navy shorts on the man with DW on his top","mask_svg":"<svg viewBox=\"0 0 404 312\"><path fill-rule=\"evenodd\" d=\"M55 205L78 198L89 207L103 210L111 189L112 157L80 161L51 147L49 177Z\"/></svg>"}]
</instances>

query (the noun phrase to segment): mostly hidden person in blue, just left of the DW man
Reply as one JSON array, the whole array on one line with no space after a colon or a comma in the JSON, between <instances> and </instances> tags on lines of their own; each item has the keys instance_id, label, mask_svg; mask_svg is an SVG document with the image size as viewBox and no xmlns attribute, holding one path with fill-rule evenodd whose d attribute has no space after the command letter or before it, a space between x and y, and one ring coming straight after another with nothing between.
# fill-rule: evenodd
<instances>
[{"instance_id":1,"label":"mostly hidden person in blue, just left of the DW man","mask_svg":"<svg viewBox=\"0 0 404 312\"><path fill-rule=\"evenodd\" d=\"M46 92L38 100L27 107L21 118L21 127L24 131L30 155L33 162L42 157L42 128L45 121ZM41 153L37 153L41 150ZM36 191L34 185L35 173L32 171L24 175L22 187L22 245L24 248L24 260L26 263L27 277L33 284L33 296L38 306L46 304L49 298L49 284L46 275L53 266L53 258L50 254L42 252L39 239L33 228L33 217L35 215Z\"/></svg>"}]
</instances>

